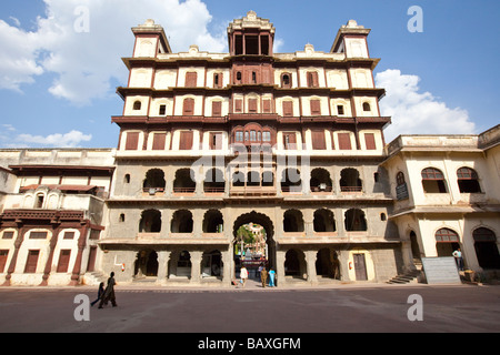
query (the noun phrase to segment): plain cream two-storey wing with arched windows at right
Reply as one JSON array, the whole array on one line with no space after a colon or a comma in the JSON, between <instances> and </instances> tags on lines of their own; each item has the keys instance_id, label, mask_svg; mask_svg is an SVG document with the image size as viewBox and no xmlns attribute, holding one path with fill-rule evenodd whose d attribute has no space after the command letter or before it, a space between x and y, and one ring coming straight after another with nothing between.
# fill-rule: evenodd
<instances>
[{"instance_id":1,"label":"plain cream two-storey wing with arched windows at right","mask_svg":"<svg viewBox=\"0 0 500 355\"><path fill-rule=\"evenodd\" d=\"M460 248L468 270L500 270L500 125L481 134L400 135L386 146L407 265ZM488 275L490 274L490 275Z\"/></svg>"}]
</instances>

